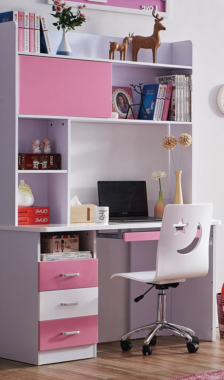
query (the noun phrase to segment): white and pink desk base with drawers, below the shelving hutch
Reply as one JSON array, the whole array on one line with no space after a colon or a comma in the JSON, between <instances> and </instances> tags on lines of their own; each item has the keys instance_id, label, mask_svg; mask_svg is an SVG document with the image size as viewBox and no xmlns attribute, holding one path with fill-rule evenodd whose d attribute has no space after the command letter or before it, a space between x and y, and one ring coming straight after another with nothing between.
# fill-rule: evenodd
<instances>
[{"instance_id":1,"label":"white and pink desk base with drawers, below the shelving hutch","mask_svg":"<svg viewBox=\"0 0 224 380\"><path fill-rule=\"evenodd\" d=\"M208 275L167 291L167 320L205 340L215 340L219 224L212 220ZM133 299L148 285L110 276L154 269L160 227L161 222L0 226L0 357L36 365L91 358L98 341L119 340L129 328L155 321L157 291L136 304ZM40 262L41 233L59 232L78 233L79 249L91 250L93 258Z\"/></svg>"}]
</instances>

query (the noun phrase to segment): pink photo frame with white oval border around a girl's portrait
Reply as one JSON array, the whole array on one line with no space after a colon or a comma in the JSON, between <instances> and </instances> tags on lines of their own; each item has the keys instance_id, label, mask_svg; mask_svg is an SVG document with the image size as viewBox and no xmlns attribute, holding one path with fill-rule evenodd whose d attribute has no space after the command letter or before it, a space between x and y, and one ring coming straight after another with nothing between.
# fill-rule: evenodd
<instances>
[{"instance_id":1,"label":"pink photo frame with white oval border around a girl's portrait","mask_svg":"<svg viewBox=\"0 0 224 380\"><path fill-rule=\"evenodd\" d=\"M134 119L129 104L133 105L132 89L130 87L112 87L112 106L115 107L114 111L118 112L118 119L125 119L126 115L127 119ZM135 115L134 106L133 113Z\"/></svg>"}]
</instances>

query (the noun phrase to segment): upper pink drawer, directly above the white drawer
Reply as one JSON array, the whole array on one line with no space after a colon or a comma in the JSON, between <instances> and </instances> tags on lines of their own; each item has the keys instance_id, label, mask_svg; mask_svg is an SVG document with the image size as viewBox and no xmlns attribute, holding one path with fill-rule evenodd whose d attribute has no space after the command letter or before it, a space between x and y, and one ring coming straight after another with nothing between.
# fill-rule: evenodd
<instances>
[{"instance_id":1,"label":"upper pink drawer, directly above the white drawer","mask_svg":"<svg viewBox=\"0 0 224 380\"><path fill-rule=\"evenodd\" d=\"M39 262L38 291L97 287L97 260Z\"/></svg>"}]
</instances>

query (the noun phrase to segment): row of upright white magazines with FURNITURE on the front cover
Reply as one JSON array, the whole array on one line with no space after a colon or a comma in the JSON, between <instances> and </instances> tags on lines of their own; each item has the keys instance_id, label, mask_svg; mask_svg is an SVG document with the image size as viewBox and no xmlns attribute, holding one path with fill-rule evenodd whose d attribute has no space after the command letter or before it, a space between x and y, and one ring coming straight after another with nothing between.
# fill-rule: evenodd
<instances>
[{"instance_id":1,"label":"row of upright white magazines with FURNITURE on the front cover","mask_svg":"<svg viewBox=\"0 0 224 380\"><path fill-rule=\"evenodd\" d=\"M157 76L159 85L172 85L167 120L192 121L192 74L172 74Z\"/></svg>"}]
</instances>

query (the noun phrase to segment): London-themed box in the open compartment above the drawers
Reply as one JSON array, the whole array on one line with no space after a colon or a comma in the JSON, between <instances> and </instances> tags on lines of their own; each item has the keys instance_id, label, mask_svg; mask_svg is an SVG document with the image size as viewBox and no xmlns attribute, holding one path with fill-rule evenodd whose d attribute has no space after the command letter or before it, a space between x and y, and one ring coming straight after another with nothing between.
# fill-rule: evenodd
<instances>
[{"instance_id":1,"label":"London-themed box in the open compartment above the drawers","mask_svg":"<svg viewBox=\"0 0 224 380\"><path fill-rule=\"evenodd\" d=\"M76 252L79 250L78 235L43 235L41 253Z\"/></svg>"}]
</instances>

